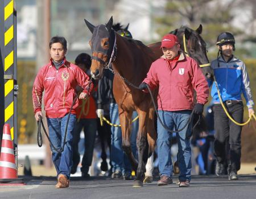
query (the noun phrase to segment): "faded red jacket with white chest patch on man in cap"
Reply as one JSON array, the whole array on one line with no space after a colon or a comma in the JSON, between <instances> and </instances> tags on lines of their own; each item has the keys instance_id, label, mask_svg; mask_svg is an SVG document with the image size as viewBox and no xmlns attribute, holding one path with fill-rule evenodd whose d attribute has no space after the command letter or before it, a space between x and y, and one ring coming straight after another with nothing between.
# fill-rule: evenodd
<instances>
[{"instance_id":1,"label":"faded red jacket with white chest patch on man in cap","mask_svg":"<svg viewBox=\"0 0 256 199\"><path fill-rule=\"evenodd\" d=\"M144 82L151 89L159 85L158 110L192 110L193 90L198 103L207 103L209 87L196 61L180 54L177 61L168 62L160 57L152 63Z\"/></svg>"}]
</instances>

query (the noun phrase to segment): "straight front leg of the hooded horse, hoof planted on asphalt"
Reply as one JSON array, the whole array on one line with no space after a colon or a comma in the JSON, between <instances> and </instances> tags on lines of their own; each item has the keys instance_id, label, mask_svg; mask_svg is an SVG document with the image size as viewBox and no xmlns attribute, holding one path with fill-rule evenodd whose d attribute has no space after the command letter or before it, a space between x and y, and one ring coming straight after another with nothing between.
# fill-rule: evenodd
<instances>
[{"instance_id":1,"label":"straight front leg of the hooded horse, hoof planted on asphalt","mask_svg":"<svg viewBox=\"0 0 256 199\"><path fill-rule=\"evenodd\" d=\"M147 142L147 112L137 110L139 115L139 130L137 135L138 148L138 169L134 187L143 186L144 173L146 172L146 163L148 158L148 142Z\"/></svg>"}]
</instances>

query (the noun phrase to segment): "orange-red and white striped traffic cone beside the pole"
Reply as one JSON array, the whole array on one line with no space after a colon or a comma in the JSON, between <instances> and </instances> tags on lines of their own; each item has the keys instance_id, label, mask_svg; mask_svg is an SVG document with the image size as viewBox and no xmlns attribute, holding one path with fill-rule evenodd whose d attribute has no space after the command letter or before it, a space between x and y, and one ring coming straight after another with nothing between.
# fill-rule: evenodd
<instances>
[{"instance_id":1,"label":"orange-red and white striped traffic cone beside the pole","mask_svg":"<svg viewBox=\"0 0 256 199\"><path fill-rule=\"evenodd\" d=\"M3 126L2 147L0 154L0 185L24 185L23 179L18 179L17 175L13 140L11 140L9 124L5 124L5 126Z\"/></svg>"}]
</instances>

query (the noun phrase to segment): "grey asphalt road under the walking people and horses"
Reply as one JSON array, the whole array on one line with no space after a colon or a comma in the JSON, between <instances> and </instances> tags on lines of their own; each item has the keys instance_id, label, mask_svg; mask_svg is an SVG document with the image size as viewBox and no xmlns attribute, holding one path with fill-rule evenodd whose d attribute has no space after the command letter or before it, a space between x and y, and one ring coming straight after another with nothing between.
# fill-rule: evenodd
<instances>
[{"instance_id":1,"label":"grey asphalt road under the walking people and horses","mask_svg":"<svg viewBox=\"0 0 256 199\"><path fill-rule=\"evenodd\" d=\"M30 177L25 181L24 186L0 186L0 198L256 198L256 175L241 175L236 181L229 181L227 176L192 176L188 188L177 184L157 186L157 179L142 188L133 188L133 181L108 177L73 177L67 189L56 189L54 177Z\"/></svg>"}]
</instances>

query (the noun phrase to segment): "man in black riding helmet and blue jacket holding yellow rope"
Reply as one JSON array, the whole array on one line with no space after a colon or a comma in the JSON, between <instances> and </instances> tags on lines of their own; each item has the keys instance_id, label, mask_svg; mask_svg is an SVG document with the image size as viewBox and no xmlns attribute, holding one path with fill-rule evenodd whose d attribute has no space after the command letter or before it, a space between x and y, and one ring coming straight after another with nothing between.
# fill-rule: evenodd
<instances>
[{"instance_id":1,"label":"man in black riding helmet and blue jacket holding yellow rope","mask_svg":"<svg viewBox=\"0 0 256 199\"><path fill-rule=\"evenodd\" d=\"M213 60L211 67L217 81L218 89L226 109L232 118L242 123L243 121L243 103L241 94L246 99L246 105L249 110L249 116L254 114L249 75L245 64L233 55L235 51L235 39L230 32L222 32L217 38L218 56ZM220 55L220 56L219 56ZM212 82L209 82L211 85ZM236 125L225 114L220 104L216 85L212 88L213 111L214 111L214 154L217 158L216 175L223 175L225 167L228 166L229 180L237 180L237 171L240 169L241 159L241 131L242 127ZM228 165L226 139L229 138L230 154Z\"/></svg>"}]
</instances>

